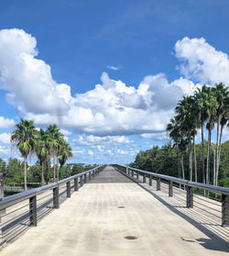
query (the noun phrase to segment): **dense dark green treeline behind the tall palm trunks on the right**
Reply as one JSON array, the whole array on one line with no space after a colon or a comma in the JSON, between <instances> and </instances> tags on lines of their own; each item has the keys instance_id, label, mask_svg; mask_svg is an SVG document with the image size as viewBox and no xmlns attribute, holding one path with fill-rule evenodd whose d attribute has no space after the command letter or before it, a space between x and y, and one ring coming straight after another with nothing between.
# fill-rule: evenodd
<instances>
[{"instance_id":1,"label":"dense dark green treeline behind the tall palm trunks on the right","mask_svg":"<svg viewBox=\"0 0 229 256\"><path fill-rule=\"evenodd\" d=\"M213 145L215 148L215 145ZM207 156L208 142L204 141L204 152ZM195 145L197 160L197 180L202 183L202 144ZM136 155L136 160L130 163L130 166L152 173L162 173L170 176L179 177L178 159L176 148L171 142L159 148L153 147L151 150L140 151ZM204 159L205 163L207 157ZM190 178L189 152L184 152L184 178ZM193 163L194 164L194 163ZM213 184L213 164L214 154L210 154L210 184ZM193 173L194 174L194 173ZM222 143L221 161L219 166L218 185L229 187L229 140Z\"/></svg>"}]
</instances>

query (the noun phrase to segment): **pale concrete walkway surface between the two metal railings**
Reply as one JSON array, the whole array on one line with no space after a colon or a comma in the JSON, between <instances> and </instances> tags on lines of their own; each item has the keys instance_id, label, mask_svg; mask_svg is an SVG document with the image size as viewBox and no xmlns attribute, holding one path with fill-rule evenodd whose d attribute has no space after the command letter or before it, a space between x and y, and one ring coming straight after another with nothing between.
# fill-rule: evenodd
<instances>
[{"instance_id":1,"label":"pale concrete walkway surface between the two metal railings","mask_svg":"<svg viewBox=\"0 0 229 256\"><path fill-rule=\"evenodd\" d=\"M223 239L213 235L191 221L194 209L185 209L187 215L171 210L168 202L158 200L163 192L148 189L106 167L37 228L8 244L1 256L228 255L227 229L218 229Z\"/></svg>"}]
</instances>

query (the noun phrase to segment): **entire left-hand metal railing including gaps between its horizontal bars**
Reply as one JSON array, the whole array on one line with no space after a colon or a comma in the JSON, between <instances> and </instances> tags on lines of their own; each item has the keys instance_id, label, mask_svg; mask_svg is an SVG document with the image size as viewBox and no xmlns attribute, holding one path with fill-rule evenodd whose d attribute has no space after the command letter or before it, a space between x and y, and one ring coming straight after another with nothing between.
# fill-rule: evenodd
<instances>
[{"instance_id":1,"label":"entire left-hand metal railing including gaps between its horizontal bars","mask_svg":"<svg viewBox=\"0 0 229 256\"><path fill-rule=\"evenodd\" d=\"M104 167L105 165L101 165L60 182L1 199L0 246L14 239L28 227L36 227L39 219L45 217L54 208L58 209L64 200L71 197L73 191L78 191L79 187L93 179Z\"/></svg>"}]
</instances>

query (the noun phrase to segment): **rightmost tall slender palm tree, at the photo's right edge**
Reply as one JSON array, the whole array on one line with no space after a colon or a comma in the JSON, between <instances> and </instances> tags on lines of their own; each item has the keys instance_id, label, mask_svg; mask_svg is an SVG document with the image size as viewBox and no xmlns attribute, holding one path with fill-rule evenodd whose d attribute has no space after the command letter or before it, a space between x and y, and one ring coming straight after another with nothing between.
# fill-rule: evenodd
<instances>
[{"instance_id":1,"label":"rightmost tall slender palm tree, at the photo's right edge","mask_svg":"<svg viewBox=\"0 0 229 256\"><path fill-rule=\"evenodd\" d=\"M216 152L215 152L215 172L216 172L216 179L215 185L218 184L218 173L219 173L219 160L220 160L220 148L221 148L221 141L220 137L220 124L222 119L228 109L228 97L229 97L229 87L225 86L224 83L215 83L215 88L213 88L213 95L217 101L217 108L216 108L216 124L217 124L217 137L216 137ZM224 128L224 122L223 128ZM223 129L222 129L223 133Z\"/></svg>"}]
</instances>

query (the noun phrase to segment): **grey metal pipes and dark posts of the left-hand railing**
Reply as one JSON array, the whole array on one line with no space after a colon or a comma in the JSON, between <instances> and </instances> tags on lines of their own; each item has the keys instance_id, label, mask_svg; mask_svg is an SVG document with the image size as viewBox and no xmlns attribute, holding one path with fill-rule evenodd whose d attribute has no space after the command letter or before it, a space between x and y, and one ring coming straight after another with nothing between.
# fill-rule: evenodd
<instances>
[{"instance_id":1,"label":"grey metal pipes and dark posts of the left-hand railing","mask_svg":"<svg viewBox=\"0 0 229 256\"><path fill-rule=\"evenodd\" d=\"M87 180L92 179L96 174L100 173L104 169L105 165L100 165L93 169L90 169L86 172L79 173L63 179L57 183L47 184L38 188L31 189L29 191L22 192L16 195L10 195L0 200L0 246L8 241L7 238L7 230L12 229L13 226L17 224L21 224L21 220L25 218L28 219L28 226L37 226L38 224L38 211L40 212L43 208L48 207L52 204L51 208L60 208L60 197L66 193L66 198L71 197L71 181L73 184L73 191L78 191L79 184L82 186L86 184ZM66 184L66 189L63 191L62 188ZM47 198L47 196L43 196L41 198L37 198L38 195L42 193L46 193L49 190L52 190L52 196L47 200L37 205L38 200ZM49 194L51 195L51 194ZM65 199L66 199L65 198ZM8 213L5 214L5 211L10 206L16 206L16 204L25 202L29 200L29 204L27 204L27 212L23 212L19 216L12 217L7 219L7 221L3 222L4 217L8 217ZM64 199L64 200L65 200ZM16 210L13 210L10 213L14 213L16 215L16 211L19 211L22 207L18 207ZM15 234L16 235L16 234ZM15 236L13 236L15 237Z\"/></svg>"}]
</instances>

